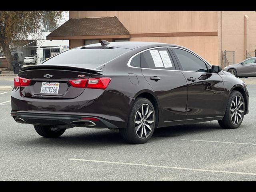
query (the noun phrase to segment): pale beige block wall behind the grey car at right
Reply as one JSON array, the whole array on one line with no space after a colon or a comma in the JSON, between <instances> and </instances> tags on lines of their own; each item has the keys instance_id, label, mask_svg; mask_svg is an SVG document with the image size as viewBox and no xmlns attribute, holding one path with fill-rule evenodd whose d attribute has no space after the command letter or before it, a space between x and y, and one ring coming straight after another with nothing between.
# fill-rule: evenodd
<instances>
[{"instance_id":1,"label":"pale beige block wall behind the grey car at right","mask_svg":"<svg viewBox=\"0 0 256 192\"><path fill-rule=\"evenodd\" d=\"M238 63L246 58L246 50L255 50L255 11L219 11L218 23L219 63L221 51L235 51L235 63Z\"/></svg>"}]
</instances>

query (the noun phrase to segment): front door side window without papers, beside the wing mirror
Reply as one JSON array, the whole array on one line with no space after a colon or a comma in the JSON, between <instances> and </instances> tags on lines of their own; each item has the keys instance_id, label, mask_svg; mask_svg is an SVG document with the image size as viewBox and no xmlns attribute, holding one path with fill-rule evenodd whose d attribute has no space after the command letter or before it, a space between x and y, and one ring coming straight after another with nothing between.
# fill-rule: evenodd
<instances>
[{"instance_id":1,"label":"front door side window without papers, beside the wing mirror","mask_svg":"<svg viewBox=\"0 0 256 192\"><path fill-rule=\"evenodd\" d=\"M208 72L206 64L194 54L178 48L172 48L172 50L178 57L184 71Z\"/></svg>"}]
</instances>

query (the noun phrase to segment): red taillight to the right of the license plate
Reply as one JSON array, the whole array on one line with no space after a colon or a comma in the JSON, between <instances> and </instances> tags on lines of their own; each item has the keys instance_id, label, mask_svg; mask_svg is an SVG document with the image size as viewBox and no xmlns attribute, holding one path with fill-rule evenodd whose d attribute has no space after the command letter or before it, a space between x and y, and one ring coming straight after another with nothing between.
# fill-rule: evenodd
<instances>
[{"instance_id":1,"label":"red taillight to the right of the license plate","mask_svg":"<svg viewBox=\"0 0 256 192\"><path fill-rule=\"evenodd\" d=\"M69 80L68 82L71 84L71 86L78 88L106 89L110 81L110 77L99 77L89 79L75 79Z\"/></svg>"}]
</instances>

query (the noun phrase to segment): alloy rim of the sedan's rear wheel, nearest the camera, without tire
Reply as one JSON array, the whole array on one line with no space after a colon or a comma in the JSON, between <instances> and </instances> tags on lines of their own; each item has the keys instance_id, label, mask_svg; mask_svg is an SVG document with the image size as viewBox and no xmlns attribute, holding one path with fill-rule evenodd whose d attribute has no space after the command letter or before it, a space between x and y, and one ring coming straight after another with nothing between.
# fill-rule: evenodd
<instances>
[{"instance_id":1,"label":"alloy rim of the sedan's rear wheel, nearest the camera, without tire","mask_svg":"<svg viewBox=\"0 0 256 192\"><path fill-rule=\"evenodd\" d=\"M137 110L134 119L134 127L137 136L145 139L150 136L154 126L154 113L150 105L142 104Z\"/></svg>"}]
</instances>

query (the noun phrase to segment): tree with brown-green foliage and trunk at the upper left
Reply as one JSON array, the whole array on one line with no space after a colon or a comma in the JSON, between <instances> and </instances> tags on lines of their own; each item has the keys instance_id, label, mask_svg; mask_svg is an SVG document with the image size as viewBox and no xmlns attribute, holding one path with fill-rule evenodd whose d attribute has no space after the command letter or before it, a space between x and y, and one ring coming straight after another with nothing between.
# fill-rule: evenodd
<instances>
[{"instance_id":1,"label":"tree with brown-green foliage and trunk at the upper left","mask_svg":"<svg viewBox=\"0 0 256 192\"><path fill-rule=\"evenodd\" d=\"M44 27L56 28L62 11L0 11L0 48L6 56L8 69L12 69L11 43L25 39L30 32L40 32Z\"/></svg>"}]
</instances>

